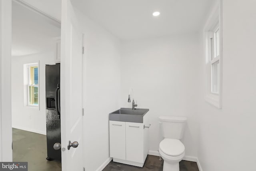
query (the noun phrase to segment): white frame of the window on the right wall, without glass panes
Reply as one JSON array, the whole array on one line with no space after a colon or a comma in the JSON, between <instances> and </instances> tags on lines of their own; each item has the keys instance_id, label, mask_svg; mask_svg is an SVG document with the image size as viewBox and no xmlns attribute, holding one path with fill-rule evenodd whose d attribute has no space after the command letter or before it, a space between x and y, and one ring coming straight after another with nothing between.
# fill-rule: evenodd
<instances>
[{"instance_id":1,"label":"white frame of the window on the right wall, without glass panes","mask_svg":"<svg viewBox=\"0 0 256 171\"><path fill-rule=\"evenodd\" d=\"M206 92L205 100L215 107L222 108L222 6L216 5L204 27L205 61L206 61ZM216 49L216 32L219 30L219 55ZM212 40L211 40L212 39ZM213 64L218 62L217 92L213 90Z\"/></svg>"}]
</instances>

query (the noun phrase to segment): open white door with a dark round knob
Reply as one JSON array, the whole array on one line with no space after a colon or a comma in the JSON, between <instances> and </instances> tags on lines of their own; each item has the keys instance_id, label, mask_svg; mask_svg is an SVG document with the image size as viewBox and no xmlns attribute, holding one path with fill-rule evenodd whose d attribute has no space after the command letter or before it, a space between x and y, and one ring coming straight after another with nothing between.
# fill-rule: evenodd
<instances>
[{"instance_id":1,"label":"open white door with a dark round knob","mask_svg":"<svg viewBox=\"0 0 256 171\"><path fill-rule=\"evenodd\" d=\"M62 171L83 171L82 32L70 0L62 0L60 116ZM77 141L78 147L70 147Z\"/></svg>"}]
</instances>

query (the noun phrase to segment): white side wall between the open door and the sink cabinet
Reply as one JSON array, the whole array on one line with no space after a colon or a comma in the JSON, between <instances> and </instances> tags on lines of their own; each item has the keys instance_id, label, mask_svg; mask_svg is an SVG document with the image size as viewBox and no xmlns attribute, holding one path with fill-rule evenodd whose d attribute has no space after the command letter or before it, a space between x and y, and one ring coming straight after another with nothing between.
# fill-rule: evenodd
<instances>
[{"instance_id":1,"label":"white side wall between the open door and the sink cabinet","mask_svg":"<svg viewBox=\"0 0 256 171\"><path fill-rule=\"evenodd\" d=\"M82 13L84 55L84 166L109 162L109 113L120 107L120 42ZM103 166L101 166L103 164Z\"/></svg>"}]
</instances>

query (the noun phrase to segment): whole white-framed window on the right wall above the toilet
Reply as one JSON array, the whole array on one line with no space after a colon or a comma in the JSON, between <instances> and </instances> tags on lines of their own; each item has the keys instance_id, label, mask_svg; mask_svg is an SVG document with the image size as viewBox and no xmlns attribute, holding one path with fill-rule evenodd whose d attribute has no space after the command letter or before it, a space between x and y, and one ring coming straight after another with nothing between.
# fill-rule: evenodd
<instances>
[{"instance_id":1,"label":"whole white-framed window on the right wall above the toilet","mask_svg":"<svg viewBox=\"0 0 256 171\"><path fill-rule=\"evenodd\" d=\"M220 10L215 9L205 26L206 101L221 108L222 34Z\"/></svg>"}]
</instances>

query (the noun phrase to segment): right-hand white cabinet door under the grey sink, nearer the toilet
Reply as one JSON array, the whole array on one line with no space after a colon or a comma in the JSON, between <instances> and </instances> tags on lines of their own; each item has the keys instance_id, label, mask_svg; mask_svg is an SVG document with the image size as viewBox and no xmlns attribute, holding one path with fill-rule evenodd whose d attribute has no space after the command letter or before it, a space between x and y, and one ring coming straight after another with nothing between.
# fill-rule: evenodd
<instances>
[{"instance_id":1,"label":"right-hand white cabinet door under the grey sink, nearer the toilet","mask_svg":"<svg viewBox=\"0 0 256 171\"><path fill-rule=\"evenodd\" d=\"M143 123L126 122L126 160L144 162Z\"/></svg>"}]
</instances>

